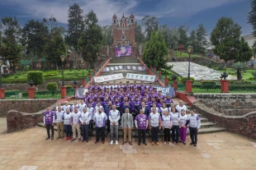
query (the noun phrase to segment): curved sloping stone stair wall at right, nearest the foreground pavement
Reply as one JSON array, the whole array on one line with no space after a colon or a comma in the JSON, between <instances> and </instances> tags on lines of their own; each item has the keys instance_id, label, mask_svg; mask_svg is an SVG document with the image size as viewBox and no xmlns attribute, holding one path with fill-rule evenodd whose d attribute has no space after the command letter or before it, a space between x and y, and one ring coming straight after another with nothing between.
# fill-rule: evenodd
<instances>
[{"instance_id":1,"label":"curved sloping stone stair wall at right, nearest the foreground pavement","mask_svg":"<svg viewBox=\"0 0 256 170\"><path fill-rule=\"evenodd\" d=\"M224 127L226 131L256 139L256 112L243 116L226 116L201 102L194 103L192 107L203 117L216 122L217 126Z\"/></svg>"}]
</instances>

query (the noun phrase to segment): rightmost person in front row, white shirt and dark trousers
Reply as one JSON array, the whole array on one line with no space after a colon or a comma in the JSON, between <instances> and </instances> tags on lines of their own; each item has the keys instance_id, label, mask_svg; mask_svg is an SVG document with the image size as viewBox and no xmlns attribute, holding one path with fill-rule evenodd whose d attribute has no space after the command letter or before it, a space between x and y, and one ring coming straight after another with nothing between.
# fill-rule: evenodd
<instances>
[{"instance_id":1,"label":"rightmost person in front row, white shirt and dark trousers","mask_svg":"<svg viewBox=\"0 0 256 170\"><path fill-rule=\"evenodd\" d=\"M189 127L190 138L191 138L191 143L189 145L197 146L197 132L200 129L201 120L198 117L198 115L194 113L194 110L191 109L189 113L190 115L187 116L187 122L186 122L186 126L188 125Z\"/></svg>"}]
</instances>

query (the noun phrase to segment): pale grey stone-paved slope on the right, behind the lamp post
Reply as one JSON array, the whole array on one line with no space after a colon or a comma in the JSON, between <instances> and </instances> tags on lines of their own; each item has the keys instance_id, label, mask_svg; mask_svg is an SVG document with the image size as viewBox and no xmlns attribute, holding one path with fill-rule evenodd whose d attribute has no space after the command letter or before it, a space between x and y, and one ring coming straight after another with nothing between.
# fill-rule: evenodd
<instances>
[{"instance_id":1,"label":"pale grey stone-paved slope on the right, behind the lamp post","mask_svg":"<svg viewBox=\"0 0 256 170\"><path fill-rule=\"evenodd\" d=\"M172 70L180 76L187 77L188 62L168 62L168 65L173 65ZM190 76L194 77L195 80L220 80L220 74L223 73L194 62L190 62L190 72ZM236 77L229 75L227 79L236 80Z\"/></svg>"}]
</instances>

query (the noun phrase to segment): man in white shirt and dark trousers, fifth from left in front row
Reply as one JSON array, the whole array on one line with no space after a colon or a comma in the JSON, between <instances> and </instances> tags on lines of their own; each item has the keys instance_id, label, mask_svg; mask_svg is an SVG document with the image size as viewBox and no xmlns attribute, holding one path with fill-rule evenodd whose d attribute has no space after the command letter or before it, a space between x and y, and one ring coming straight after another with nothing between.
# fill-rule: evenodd
<instances>
[{"instance_id":1,"label":"man in white shirt and dark trousers, fifth from left in front row","mask_svg":"<svg viewBox=\"0 0 256 170\"><path fill-rule=\"evenodd\" d=\"M91 120L91 114L88 113L87 108L83 108L83 113L79 116L79 121L82 124L82 134L83 134L83 140L86 140L88 142L88 133L89 133L89 122Z\"/></svg>"}]
</instances>

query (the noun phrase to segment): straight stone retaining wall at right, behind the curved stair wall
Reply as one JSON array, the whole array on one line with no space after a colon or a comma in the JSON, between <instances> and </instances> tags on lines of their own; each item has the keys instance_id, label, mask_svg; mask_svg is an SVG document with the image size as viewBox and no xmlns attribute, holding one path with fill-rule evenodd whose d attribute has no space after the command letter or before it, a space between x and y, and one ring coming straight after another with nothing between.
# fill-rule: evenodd
<instances>
[{"instance_id":1,"label":"straight stone retaining wall at right, behind the curved stair wall","mask_svg":"<svg viewBox=\"0 0 256 170\"><path fill-rule=\"evenodd\" d=\"M227 116L242 116L256 111L256 94L193 94L198 102Z\"/></svg>"}]
</instances>

